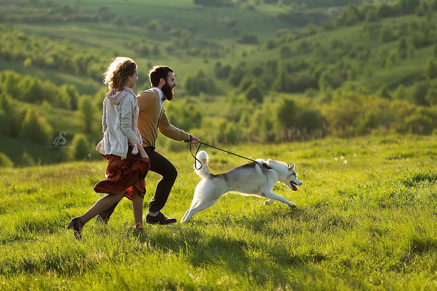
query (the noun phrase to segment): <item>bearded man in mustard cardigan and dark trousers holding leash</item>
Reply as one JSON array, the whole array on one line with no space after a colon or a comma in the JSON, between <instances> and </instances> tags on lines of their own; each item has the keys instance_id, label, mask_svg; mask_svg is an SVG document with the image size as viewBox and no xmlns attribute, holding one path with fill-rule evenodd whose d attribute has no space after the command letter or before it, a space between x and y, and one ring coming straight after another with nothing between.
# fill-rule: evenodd
<instances>
[{"instance_id":1,"label":"bearded man in mustard cardigan and dark trousers holding leash","mask_svg":"<svg viewBox=\"0 0 437 291\"><path fill-rule=\"evenodd\" d=\"M162 176L156 186L155 195L149 204L146 222L149 224L168 225L176 222L175 218L167 218L161 209L167 202L168 195L178 175L174 165L164 156L155 151L156 138L159 131L175 141L198 144L200 140L194 135L186 133L170 124L164 108L164 100L170 101L174 97L173 88L176 86L174 71L168 66L157 65L149 71L152 88L141 92L138 96L138 129L143 140L143 147L151 162L150 171ZM128 196L127 196L128 197ZM132 199L132 197L128 197ZM118 202L103 211L97 217L98 221L108 222Z\"/></svg>"}]
</instances>

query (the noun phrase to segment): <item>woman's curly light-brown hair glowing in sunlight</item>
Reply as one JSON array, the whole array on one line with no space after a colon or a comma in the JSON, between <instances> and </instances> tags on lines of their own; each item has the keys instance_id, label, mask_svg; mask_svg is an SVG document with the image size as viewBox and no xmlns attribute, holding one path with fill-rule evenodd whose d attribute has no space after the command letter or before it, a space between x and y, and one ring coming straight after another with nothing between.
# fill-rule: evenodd
<instances>
[{"instance_id":1,"label":"woman's curly light-brown hair glowing in sunlight","mask_svg":"<svg viewBox=\"0 0 437 291\"><path fill-rule=\"evenodd\" d=\"M123 84L135 73L137 65L134 60L126 57L117 57L109 64L106 72L103 73L103 84L107 85L109 90L123 90Z\"/></svg>"}]
</instances>

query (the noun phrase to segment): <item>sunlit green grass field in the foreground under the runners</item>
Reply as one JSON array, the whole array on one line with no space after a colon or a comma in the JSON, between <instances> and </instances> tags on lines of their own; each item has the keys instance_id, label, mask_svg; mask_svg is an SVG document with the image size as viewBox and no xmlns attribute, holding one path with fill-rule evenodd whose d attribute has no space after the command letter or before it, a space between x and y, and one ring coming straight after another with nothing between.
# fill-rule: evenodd
<instances>
[{"instance_id":1,"label":"sunlit green grass field in the foreground under the runners","mask_svg":"<svg viewBox=\"0 0 437 291\"><path fill-rule=\"evenodd\" d=\"M0 289L436 290L436 148L436 136L230 147L295 162L303 186L273 192L297 208L228 194L186 224L134 235L124 199L80 242L64 226L100 197L103 160L3 168ZM206 150L212 173L244 163ZM179 171L163 212L180 219L200 178L188 151L162 153ZM159 178L149 173L145 201Z\"/></svg>"}]
</instances>

